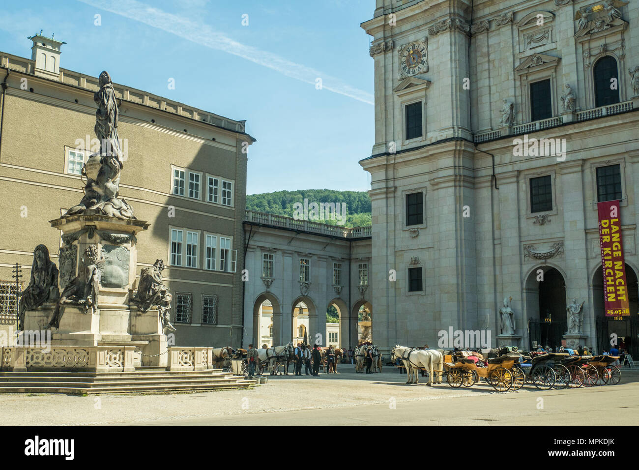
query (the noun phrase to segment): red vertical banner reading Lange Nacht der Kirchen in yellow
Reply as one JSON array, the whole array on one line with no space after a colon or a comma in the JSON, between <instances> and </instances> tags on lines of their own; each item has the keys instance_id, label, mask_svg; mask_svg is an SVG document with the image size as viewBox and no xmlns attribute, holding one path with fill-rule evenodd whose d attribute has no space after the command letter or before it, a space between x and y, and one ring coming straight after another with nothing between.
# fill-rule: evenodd
<instances>
[{"instance_id":1,"label":"red vertical banner reading Lange Nacht der Kirchen in yellow","mask_svg":"<svg viewBox=\"0 0 639 470\"><path fill-rule=\"evenodd\" d=\"M619 201L597 203L599 245L603 270L603 299L606 317L630 315L626 263L621 239Z\"/></svg>"}]
</instances>

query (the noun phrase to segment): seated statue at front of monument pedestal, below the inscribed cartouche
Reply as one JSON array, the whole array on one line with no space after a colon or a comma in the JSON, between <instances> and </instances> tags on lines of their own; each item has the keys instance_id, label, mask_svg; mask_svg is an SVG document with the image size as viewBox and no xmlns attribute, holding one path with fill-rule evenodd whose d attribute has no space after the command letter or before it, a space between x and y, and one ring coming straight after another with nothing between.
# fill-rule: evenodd
<instances>
[{"instance_id":1,"label":"seated statue at front of monument pedestal, below the inscribed cartouche","mask_svg":"<svg viewBox=\"0 0 639 470\"><path fill-rule=\"evenodd\" d=\"M104 259L99 259L98 247L89 245L84 250L84 256L82 256L84 270L73 278L65 290L62 291L60 299L56 303L53 317L49 322L49 327L60 327L60 319L65 305L82 306L84 313L88 313L89 307L93 308L94 311L98 308L100 277L102 276L98 264L101 262L104 262Z\"/></svg>"}]
</instances>

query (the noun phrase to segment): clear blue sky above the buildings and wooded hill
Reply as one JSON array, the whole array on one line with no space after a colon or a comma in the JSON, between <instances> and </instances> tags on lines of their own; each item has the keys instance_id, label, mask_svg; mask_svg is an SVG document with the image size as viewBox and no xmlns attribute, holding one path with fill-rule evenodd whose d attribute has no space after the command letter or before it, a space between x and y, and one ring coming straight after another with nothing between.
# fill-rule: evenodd
<instances>
[{"instance_id":1,"label":"clear blue sky above the buildings and wooded hill","mask_svg":"<svg viewBox=\"0 0 639 470\"><path fill-rule=\"evenodd\" d=\"M373 59L359 24L373 10L374 0L10 2L0 50L30 58L27 36L43 29L66 42L63 68L108 70L115 82L247 120L258 139L248 194L366 191L357 162L373 146Z\"/></svg>"}]
</instances>

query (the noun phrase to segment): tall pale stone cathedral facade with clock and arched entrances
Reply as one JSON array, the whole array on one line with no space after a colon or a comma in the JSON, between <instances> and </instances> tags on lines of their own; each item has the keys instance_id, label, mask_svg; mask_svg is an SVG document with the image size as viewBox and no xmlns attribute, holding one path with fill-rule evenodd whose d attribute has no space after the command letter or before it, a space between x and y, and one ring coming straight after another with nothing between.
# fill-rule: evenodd
<instances>
[{"instance_id":1,"label":"tall pale stone cathedral facade with clock and arched entrances","mask_svg":"<svg viewBox=\"0 0 639 470\"><path fill-rule=\"evenodd\" d=\"M569 339L601 352L616 333L638 354L637 4L376 0L362 27L374 59L375 141L360 164L376 342L432 347L452 327L555 348L574 297L583 334ZM606 200L621 200L621 320L603 317ZM509 297L514 333L498 315Z\"/></svg>"}]
</instances>

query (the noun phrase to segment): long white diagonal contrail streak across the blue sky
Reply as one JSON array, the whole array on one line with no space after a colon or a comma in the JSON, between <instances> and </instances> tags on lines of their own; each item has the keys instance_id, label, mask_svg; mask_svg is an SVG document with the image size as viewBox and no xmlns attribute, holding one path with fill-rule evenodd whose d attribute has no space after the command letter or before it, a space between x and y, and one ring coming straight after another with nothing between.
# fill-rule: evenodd
<instances>
[{"instance_id":1,"label":"long white diagonal contrail streak across the blue sky","mask_svg":"<svg viewBox=\"0 0 639 470\"><path fill-rule=\"evenodd\" d=\"M315 84L317 78L321 78L322 88L346 97L367 103L373 103L373 95L366 91L358 90L344 83L340 79L323 74L305 65L291 62L287 59L261 51L256 47L239 43L228 36L214 31L208 24L196 23L185 17L164 12L136 0L78 0L82 3L107 10L128 19L142 22L151 27L162 29L167 33L180 36L191 42L224 51L228 54L247 59L264 67L272 68L277 72L293 79ZM239 20L239 19L238 19Z\"/></svg>"}]
</instances>

